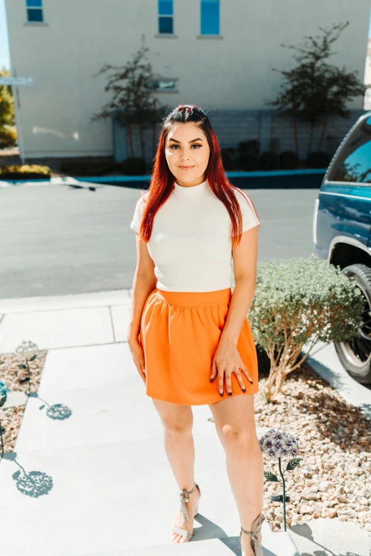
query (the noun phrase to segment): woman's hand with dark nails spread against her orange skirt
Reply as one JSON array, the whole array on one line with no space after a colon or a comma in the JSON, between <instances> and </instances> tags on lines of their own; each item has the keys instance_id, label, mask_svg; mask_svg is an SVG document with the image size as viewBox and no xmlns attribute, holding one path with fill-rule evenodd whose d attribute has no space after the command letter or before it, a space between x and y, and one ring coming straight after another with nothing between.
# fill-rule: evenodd
<instances>
[{"instance_id":1,"label":"woman's hand with dark nails spread against her orange skirt","mask_svg":"<svg viewBox=\"0 0 371 556\"><path fill-rule=\"evenodd\" d=\"M248 380L252 383L252 378L244 368L240 354L237 351L237 347L233 342L228 342L220 339L217 349L214 354L213 365L211 370L210 381L213 382L215 376L217 375L217 382L219 386L220 395L224 391L224 375L225 384L227 386L227 392L229 396L232 396L232 373L235 373L237 381L240 383L242 391L246 391L244 387L244 381L242 380L242 374L247 376Z\"/></svg>"}]
</instances>

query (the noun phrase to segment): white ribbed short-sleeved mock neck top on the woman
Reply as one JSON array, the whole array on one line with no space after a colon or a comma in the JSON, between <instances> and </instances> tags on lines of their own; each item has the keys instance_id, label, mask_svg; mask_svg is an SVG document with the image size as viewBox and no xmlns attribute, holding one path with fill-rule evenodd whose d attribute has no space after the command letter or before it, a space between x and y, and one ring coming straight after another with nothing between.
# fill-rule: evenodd
<instances>
[{"instance_id":1,"label":"white ribbed short-sleeved mock neck top on the woman","mask_svg":"<svg viewBox=\"0 0 371 556\"><path fill-rule=\"evenodd\" d=\"M259 224L250 200L235 190L242 210L242 232ZM148 192L136 203L130 227L139 231ZM174 189L154 216L147 244L155 263L156 288L203 292L230 288L232 278L232 222L225 205L208 180Z\"/></svg>"}]
</instances>

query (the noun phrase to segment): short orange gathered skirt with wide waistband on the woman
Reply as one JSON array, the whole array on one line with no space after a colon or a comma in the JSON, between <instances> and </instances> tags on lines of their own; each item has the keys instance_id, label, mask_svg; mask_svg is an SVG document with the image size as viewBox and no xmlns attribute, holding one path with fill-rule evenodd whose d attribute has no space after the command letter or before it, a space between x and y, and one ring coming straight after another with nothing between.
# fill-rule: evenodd
<instances>
[{"instance_id":1,"label":"short orange gathered skirt with wide waistband on the woman","mask_svg":"<svg viewBox=\"0 0 371 556\"><path fill-rule=\"evenodd\" d=\"M217 376L210 383L210 375L231 298L231 288L208 292L169 292L156 288L149 294L139 332L147 396L182 405L204 405L228 397L225 378L224 396L220 396ZM247 317L237 351L253 384L242 374L244 393L232 373L232 396L257 393L257 351Z\"/></svg>"}]
</instances>

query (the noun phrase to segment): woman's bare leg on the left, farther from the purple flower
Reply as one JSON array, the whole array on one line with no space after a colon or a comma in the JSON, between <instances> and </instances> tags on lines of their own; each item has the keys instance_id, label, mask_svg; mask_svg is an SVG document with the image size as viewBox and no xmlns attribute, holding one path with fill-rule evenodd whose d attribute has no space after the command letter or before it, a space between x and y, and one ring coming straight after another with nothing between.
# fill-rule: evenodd
<instances>
[{"instance_id":1,"label":"woman's bare leg on the left, farther from the purple flower","mask_svg":"<svg viewBox=\"0 0 371 556\"><path fill-rule=\"evenodd\" d=\"M193 444L193 413L190 405L179 405L163 400L152 398L154 406L160 415L163 425L163 445L165 447L168 462L173 470L173 474L178 483L179 491L193 488L194 465L195 465L195 446ZM181 513L181 503L179 502L178 513L173 522L173 527L187 529L193 533L193 514L200 493L197 488L190 493L190 499L185 503L187 506L189 519L183 525L183 514ZM188 538L173 533L174 543L187 543Z\"/></svg>"}]
</instances>

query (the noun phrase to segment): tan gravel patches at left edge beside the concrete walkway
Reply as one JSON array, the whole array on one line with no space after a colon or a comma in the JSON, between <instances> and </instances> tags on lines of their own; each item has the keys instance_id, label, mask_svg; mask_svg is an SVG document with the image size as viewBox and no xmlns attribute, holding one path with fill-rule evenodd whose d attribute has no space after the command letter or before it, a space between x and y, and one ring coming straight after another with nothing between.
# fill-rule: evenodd
<instances>
[{"instance_id":1,"label":"tan gravel patches at left edge beside the concrete walkway","mask_svg":"<svg viewBox=\"0 0 371 556\"><path fill-rule=\"evenodd\" d=\"M47 351L36 351L36 353L38 354L37 359L29 363L31 392L38 391ZM21 378L28 376L26 369L18 369L18 364L24 364L25 361L26 358L22 354L0 354L0 381L6 383L9 392L28 393L28 382L19 382ZM5 432L3 432L4 453L14 451L25 408L26 404L16 405L14 408L0 408L1 426L5 428Z\"/></svg>"}]
</instances>

